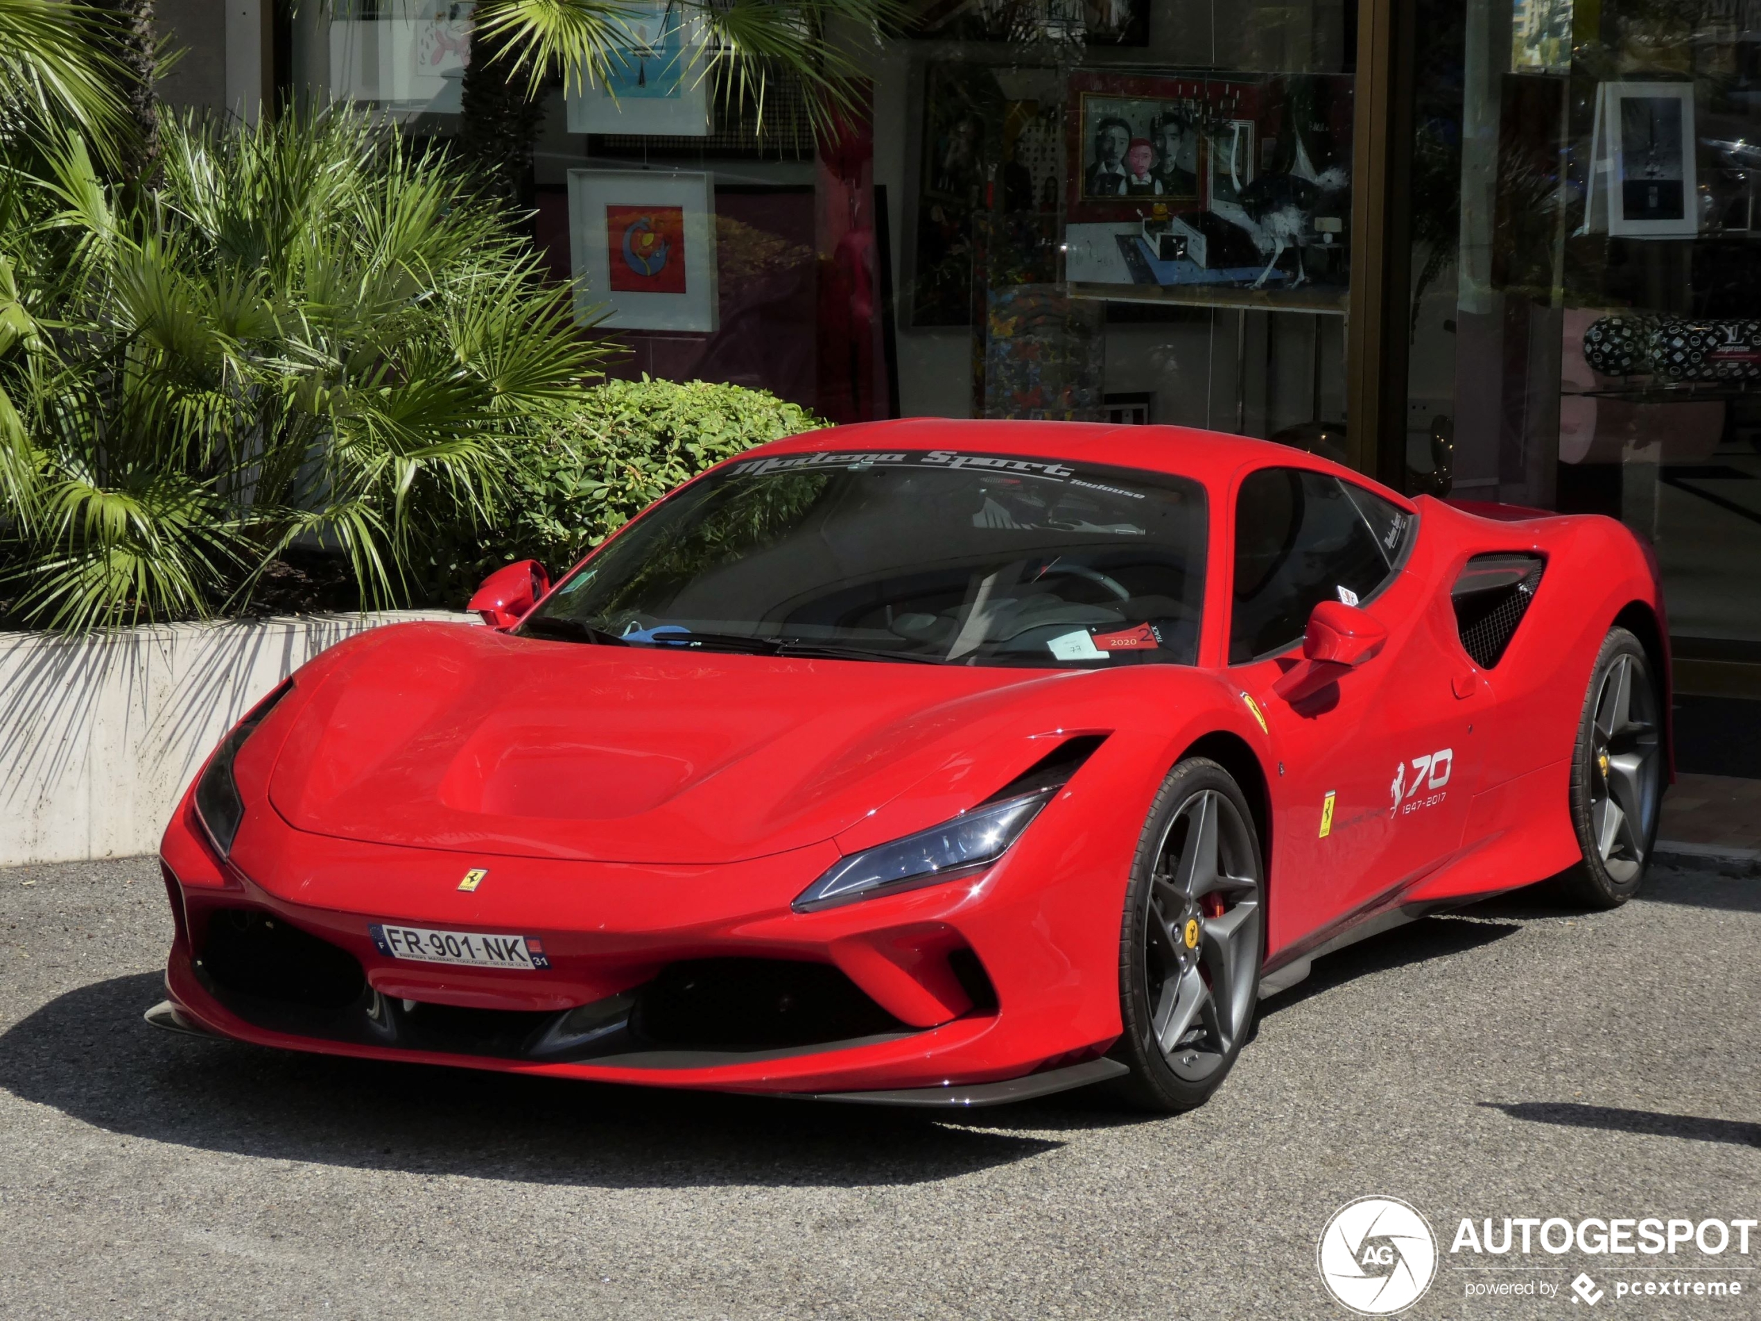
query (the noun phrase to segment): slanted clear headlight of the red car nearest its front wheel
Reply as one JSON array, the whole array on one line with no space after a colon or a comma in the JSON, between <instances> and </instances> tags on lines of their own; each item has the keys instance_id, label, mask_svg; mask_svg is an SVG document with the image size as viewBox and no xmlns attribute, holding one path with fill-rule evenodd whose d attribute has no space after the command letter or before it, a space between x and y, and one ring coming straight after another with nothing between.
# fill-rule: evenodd
<instances>
[{"instance_id":1,"label":"slanted clear headlight of the red car nearest its front wheel","mask_svg":"<svg viewBox=\"0 0 1761 1321\"><path fill-rule=\"evenodd\" d=\"M1055 787L1039 789L981 803L940 826L852 852L803 889L794 911L812 912L972 875L1002 858L1055 793Z\"/></svg>"}]
</instances>

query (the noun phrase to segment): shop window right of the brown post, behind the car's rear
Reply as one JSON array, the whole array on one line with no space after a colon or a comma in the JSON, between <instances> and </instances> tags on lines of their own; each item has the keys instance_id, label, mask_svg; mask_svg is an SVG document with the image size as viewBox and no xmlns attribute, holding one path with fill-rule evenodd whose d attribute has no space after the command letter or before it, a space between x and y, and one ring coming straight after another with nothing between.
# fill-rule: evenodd
<instances>
[{"instance_id":1,"label":"shop window right of the brown post, behind the car's rear","mask_svg":"<svg viewBox=\"0 0 1761 1321\"><path fill-rule=\"evenodd\" d=\"M1412 490L1620 518L1676 653L1761 659L1761 5L1419 0L1418 32Z\"/></svg>"}]
</instances>

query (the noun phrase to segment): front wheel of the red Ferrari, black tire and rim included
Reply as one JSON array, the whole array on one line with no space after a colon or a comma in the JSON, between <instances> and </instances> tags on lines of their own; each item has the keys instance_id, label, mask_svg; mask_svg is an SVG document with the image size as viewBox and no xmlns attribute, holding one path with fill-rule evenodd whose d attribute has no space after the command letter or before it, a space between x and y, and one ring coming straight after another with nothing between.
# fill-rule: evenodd
<instances>
[{"instance_id":1,"label":"front wheel of the red Ferrari, black tire and rim included","mask_svg":"<svg viewBox=\"0 0 1761 1321\"><path fill-rule=\"evenodd\" d=\"M1229 1074L1259 997L1264 893L1240 786L1215 761L1182 761L1150 805L1120 923L1125 1030L1109 1053L1131 1069L1116 1085L1131 1104L1192 1110Z\"/></svg>"}]
</instances>

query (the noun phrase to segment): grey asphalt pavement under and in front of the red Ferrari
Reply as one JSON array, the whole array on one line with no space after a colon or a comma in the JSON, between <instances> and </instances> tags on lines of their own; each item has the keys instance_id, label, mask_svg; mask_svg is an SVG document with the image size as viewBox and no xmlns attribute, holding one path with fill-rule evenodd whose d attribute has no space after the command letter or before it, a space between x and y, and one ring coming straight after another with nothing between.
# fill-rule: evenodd
<instances>
[{"instance_id":1,"label":"grey asphalt pavement under and in front of the red Ferrari","mask_svg":"<svg viewBox=\"0 0 1761 1321\"><path fill-rule=\"evenodd\" d=\"M141 1022L169 937L153 860L0 870L0 1316L1347 1317L1315 1245L1367 1194L1439 1238L1411 1316L1761 1316L1761 1236L1618 1270L1449 1252L1463 1217L1761 1215L1752 875L1661 868L1606 914L1525 891L1359 944L1176 1118L204 1043ZM1500 1282L1537 1293L1469 1296Z\"/></svg>"}]
</instances>

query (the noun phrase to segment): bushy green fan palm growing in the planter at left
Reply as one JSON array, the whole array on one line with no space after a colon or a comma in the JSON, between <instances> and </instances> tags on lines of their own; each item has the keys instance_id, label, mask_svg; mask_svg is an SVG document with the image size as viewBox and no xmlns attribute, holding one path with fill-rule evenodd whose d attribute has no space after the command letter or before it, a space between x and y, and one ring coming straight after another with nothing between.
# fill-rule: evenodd
<instances>
[{"instance_id":1,"label":"bushy green fan palm growing in the planter at left","mask_svg":"<svg viewBox=\"0 0 1761 1321\"><path fill-rule=\"evenodd\" d=\"M511 446L604 349L498 206L366 116L187 118L162 146L144 197L67 139L37 204L0 206L30 511L0 527L11 613L201 616L296 541L398 599L424 534L491 514Z\"/></svg>"}]
</instances>

